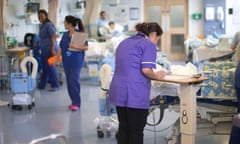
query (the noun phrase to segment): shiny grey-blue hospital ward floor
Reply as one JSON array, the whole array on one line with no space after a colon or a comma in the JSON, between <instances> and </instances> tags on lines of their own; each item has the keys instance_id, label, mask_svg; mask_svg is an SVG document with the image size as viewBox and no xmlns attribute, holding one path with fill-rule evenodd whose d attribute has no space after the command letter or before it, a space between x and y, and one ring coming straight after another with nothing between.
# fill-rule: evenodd
<instances>
[{"instance_id":1,"label":"shiny grey-blue hospital ward floor","mask_svg":"<svg viewBox=\"0 0 240 144\"><path fill-rule=\"evenodd\" d=\"M98 138L94 119L99 117L98 94L100 86L95 80L81 80L81 109L71 112L65 82L59 91L36 90L36 106L32 110L12 110L0 107L0 144L25 144L52 133L62 133L68 144L116 144L115 132L111 136ZM0 91L1 100L10 101L12 93ZM166 110L165 117L157 127L147 126L144 132L145 144L166 144L165 136L170 133L171 125L178 114ZM158 132L154 133L153 130ZM198 135L196 144L227 144L228 135ZM47 142L57 143L57 142Z\"/></svg>"}]
</instances>

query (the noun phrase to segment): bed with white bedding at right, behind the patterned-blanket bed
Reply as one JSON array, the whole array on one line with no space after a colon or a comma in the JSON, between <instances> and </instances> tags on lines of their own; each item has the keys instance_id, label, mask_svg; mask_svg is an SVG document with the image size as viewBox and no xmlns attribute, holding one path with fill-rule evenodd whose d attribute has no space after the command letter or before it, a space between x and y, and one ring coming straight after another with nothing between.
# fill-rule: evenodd
<instances>
[{"instance_id":1,"label":"bed with white bedding at right, behind the patterned-blanket bed","mask_svg":"<svg viewBox=\"0 0 240 144\"><path fill-rule=\"evenodd\" d=\"M187 61L194 64L210 60L229 60L233 56L231 50L232 37L222 36L219 39L207 37L206 39L188 38L185 43Z\"/></svg>"}]
</instances>

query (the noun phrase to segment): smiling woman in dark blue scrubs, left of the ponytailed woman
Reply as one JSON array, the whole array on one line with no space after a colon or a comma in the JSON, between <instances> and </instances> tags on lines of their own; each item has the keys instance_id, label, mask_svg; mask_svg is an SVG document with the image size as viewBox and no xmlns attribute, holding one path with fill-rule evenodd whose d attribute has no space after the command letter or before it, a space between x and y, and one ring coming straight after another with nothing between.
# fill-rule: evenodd
<instances>
[{"instance_id":1,"label":"smiling woman in dark blue scrubs, left of the ponytailed woman","mask_svg":"<svg viewBox=\"0 0 240 144\"><path fill-rule=\"evenodd\" d=\"M49 80L52 87L50 91L56 91L59 88L56 67L54 65L48 65L48 58L56 55L57 52L56 28L48 19L48 14L45 10L39 10L38 18L42 24L39 37L43 71L38 88L44 89Z\"/></svg>"}]
</instances>

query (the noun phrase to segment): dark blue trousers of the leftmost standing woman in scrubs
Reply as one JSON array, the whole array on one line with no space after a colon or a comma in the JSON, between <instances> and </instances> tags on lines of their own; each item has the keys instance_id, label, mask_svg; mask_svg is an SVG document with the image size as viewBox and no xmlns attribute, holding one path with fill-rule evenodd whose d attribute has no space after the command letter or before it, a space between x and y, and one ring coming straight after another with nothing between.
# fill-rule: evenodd
<instances>
[{"instance_id":1,"label":"dark blue trousers of the leftmost standing woman in scrubs","mask_svg":"<svg viewBox=\"0 0 240 144\"><path fill-rule=\"evenodd\" d=\"M48 65L48 58L51 56L50 53L42 53L42 77L39 84L39 88L44 89L46 87L46 84L48 83L48 80L50 81L52 88L58 88L58 78L57 78L57 70L55 66L49 66Z\"/></svg>"}]
</instances>

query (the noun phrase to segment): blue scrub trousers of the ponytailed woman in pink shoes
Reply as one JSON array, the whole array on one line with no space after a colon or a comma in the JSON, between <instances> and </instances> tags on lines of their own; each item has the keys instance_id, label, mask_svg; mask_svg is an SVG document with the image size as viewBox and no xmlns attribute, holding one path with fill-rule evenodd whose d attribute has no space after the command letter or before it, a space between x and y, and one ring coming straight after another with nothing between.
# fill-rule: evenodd
<instances>
[{"instance_id":1,"label":"blue scrub trousers of the ponytailed woman in pink shoes","mask_svg":"<svg viewBox=\"0 0 240 144\"><path fill-rule=\"evenodd\" d=\"M81 68L65 69L67 90L72 101L72 105L80 107L80 71Z\"/></svg>"}]
</instances>

